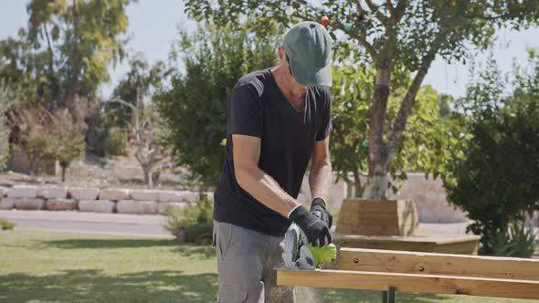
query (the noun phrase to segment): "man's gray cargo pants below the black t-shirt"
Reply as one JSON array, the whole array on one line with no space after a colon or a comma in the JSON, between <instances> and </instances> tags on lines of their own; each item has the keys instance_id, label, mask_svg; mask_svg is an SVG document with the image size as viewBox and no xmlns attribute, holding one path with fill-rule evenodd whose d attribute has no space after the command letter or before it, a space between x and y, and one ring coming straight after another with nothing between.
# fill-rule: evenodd
<instances>
[{"instance_id":1,"label":"man's gray cargo pants below the black t-shirt","mask_svg":"<svg viewBox=\"0 0 539 303\"><path fill-rule=\"evenodd\" d=\"M283 236L214 221L219 276L218 303L293 303L292 287L277 286Z\"/></svg>"}]
</instances>

